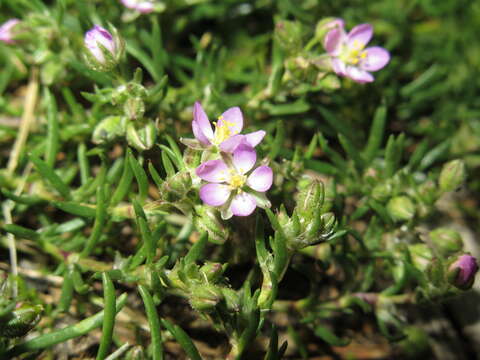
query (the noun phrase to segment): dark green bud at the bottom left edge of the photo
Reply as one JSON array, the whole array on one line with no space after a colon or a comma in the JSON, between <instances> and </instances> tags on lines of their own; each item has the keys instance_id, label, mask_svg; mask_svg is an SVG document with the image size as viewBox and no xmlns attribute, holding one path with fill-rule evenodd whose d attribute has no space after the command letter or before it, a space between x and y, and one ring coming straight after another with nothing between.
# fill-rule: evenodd
<instances>
[{"instance_id":1,"label":"dark green bud at the bottom left edge of the photo","mask_svg":"<svg viewBox=\"0 0 480 360\"><path fill-rule=\"evenodd\" d=\"M26 335L38 324L42 312L41 305L22 304L0 319L0 336L16 338Z\"/></svg>"}]
</instances>

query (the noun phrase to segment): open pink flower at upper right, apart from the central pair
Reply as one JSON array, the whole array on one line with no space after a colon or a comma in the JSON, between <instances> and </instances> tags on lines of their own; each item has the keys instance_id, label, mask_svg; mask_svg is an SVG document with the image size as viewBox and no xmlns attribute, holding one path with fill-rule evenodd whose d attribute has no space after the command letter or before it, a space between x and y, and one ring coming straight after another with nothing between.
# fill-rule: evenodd
<instances>
[{"instance_id":1,"label":"open pink flower at upper right, apart from the central pair","mask_svg":"<svg viewBox=\"0 0 480 360\"><path fill-rule=\"evenodd\" d=\"M357 25L348 34L339 26L330 30L324 46L331 57L333 71L359 83L372 82L374 77L370 71L380 70L390 61L390 54L382 47L365 49L372 35L370 24Z\"/></svg>"}]
</instances>

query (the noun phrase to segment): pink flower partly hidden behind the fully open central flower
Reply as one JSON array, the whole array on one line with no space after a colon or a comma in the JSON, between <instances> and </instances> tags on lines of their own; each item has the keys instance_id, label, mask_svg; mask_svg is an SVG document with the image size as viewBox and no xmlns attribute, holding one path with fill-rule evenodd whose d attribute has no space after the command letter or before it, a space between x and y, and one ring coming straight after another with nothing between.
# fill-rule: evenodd
<instances>
[{"instance_id":1,"label":"pink flower partly hidden behind the fully open central flower","mask_svg":"<svg viewBox=\"0 0 480 360\"><path fill-rule=\"evenodd\" d=\"M265 136L265 131L259 130L246 135L240 134L243 128L243 115L239 107L232 107L219 116L212 129L207 114L197 101L193 107L192 130L195 139L181 139L188 147L206 150L217 147L220 151L231 153L237 146L246 143L257 146Z\"/></svg>"}]
</instances>

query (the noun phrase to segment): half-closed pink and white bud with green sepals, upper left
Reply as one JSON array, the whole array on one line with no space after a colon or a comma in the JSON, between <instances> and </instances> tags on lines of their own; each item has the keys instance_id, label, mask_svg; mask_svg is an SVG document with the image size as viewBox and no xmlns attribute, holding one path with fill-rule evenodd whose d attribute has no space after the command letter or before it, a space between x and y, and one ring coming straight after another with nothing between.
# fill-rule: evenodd
<instances>
[{"instance_id":1,"label":"half-closed pink and white bud with green sepals, upper left","mask_svg":"<svg viewBox=\"0 0 480 360\"><path fill-rule=\"evenodd\" d=\"M123 53L120 39L98 25L85 33L84 44L88 64L98 71L111 70Z\"/></svg>"}]
</instances>

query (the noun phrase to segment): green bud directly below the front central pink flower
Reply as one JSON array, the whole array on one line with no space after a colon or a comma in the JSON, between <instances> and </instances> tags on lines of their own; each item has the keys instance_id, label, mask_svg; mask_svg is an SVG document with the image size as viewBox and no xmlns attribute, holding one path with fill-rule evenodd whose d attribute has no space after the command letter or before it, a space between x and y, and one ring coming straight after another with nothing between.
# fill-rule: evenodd
<instances>
[{"instance_id":1,"label":"green bud directly below the front central pink flower","mask_svg":"<svg viewBox=\"0 0 480 360\"><path fill-rule=\"evenodd\" d=\"M195 227L199 231L208 233L208 240L216 244L223 244L229 236L229 231L220 219L218 211L211 206L195 206L197 216L193 218Z\"/></svg>"}]
</instances>

